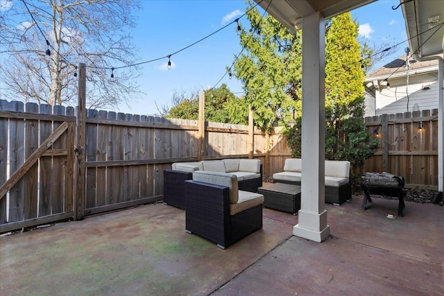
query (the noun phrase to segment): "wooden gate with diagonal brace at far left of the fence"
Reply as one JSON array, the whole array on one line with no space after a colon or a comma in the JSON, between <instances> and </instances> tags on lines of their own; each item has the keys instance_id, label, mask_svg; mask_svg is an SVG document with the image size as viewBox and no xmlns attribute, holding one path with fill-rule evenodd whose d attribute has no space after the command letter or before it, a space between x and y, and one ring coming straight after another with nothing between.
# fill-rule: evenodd
<instances>
[{"instance_id":1,"label":"wooden gate with diagonal brace at far left of the fence","mask_svg":"<svg viewBox=\"0 0 444 296\"><path fill-rule=\"evenodd\" d=\"M74 218L74 108L0 100L0 233Z\"/></svg>"}]
</instances>

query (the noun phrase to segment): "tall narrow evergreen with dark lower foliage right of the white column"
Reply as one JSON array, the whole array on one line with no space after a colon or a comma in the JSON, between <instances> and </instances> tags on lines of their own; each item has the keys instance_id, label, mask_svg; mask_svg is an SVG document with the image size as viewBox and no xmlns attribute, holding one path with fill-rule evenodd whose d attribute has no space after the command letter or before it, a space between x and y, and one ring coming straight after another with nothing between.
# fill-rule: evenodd
<instances>
[{"instance_id":1,"label":"tall narrow evergreen with dark lower foliage right of the white column","mask_svg":"<svg viewBox=\"0 0 444 296\"><path fill-rule=\"evenodd\" d=\"M357 24L350 12L327 22L325 43L325 158L363 166L377 148L364 125L364 69ZM368 49L367 49L368 50ZM300 157L300 121L287 130L293 157Z\"/></svg>"}]
</instances>

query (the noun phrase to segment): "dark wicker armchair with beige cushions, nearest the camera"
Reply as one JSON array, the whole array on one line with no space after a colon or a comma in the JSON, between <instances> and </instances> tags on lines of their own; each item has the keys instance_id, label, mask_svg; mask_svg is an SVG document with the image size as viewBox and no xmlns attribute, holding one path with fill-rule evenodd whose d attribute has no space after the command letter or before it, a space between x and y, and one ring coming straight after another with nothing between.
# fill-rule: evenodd
<instances>
[{"instance_id":1,"label":"dark wicker armchair with beige cushions, nearest the camera","mask_svg":"<svg viewBox=\"0 0 444 296\"><path fill-rule=\"evenodd\" d=\"M239 190L234 174L195 171L185 195L186 231L222 249L262 228L264 195Z\"/></svg>"}]
</instances>

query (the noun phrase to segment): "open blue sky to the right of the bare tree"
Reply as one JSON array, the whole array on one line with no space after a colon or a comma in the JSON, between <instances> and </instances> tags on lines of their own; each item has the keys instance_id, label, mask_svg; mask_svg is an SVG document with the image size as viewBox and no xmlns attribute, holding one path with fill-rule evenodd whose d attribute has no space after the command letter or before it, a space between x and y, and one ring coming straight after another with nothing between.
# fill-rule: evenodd
<instances>
[{"instance_id":1,"label":"open blue sky to the right of the bare tree","mask_svg":"<svg viewBox=\"0 0 444 296\"><path fill-rule=\"evenodd\" d=\"M142 0L134 42L139 47L142 60L153 60L174 53L229 24L245 11L244 0L187 0L155 1ZM407 40L402 11L392 10L399 1L377 1L364 8L352 11L352 17L360 24L359 33L370 44L398 44ZM261 9L261 11L263 11ZM246 17L241 23L248 26ZM404 53L407 42L398 46L398 51L386 62ZM173 92L198 92L213 87L230 67L234 55L241 51L236 25L232 24L189 49L171 57L172 67L167 69L168 59L142 65L139 84L145 93L129 105L119 106L119 112L133 114L156 114L157 107L171 106ZM377 68L375 68L377 69ZM241 96L241 83L225 76L221 83ZM114 110L116 111L116 110Z\"/></svg>"}]
</instances>

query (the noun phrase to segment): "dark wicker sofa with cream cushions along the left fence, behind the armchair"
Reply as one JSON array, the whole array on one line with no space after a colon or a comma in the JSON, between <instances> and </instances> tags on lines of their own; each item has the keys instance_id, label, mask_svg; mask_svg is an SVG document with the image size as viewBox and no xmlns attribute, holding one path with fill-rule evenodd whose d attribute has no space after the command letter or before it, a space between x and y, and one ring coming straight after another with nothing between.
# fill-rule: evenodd
<instances>
[{"instance_id":1,"label":"dark wicker sofa with cream cushions along the left fence, behind the armchair","mask_svg":"<svg viewBox=\"0 0 444 296\"><path fill-rule=\"evenodd\" d=\"M237 176L239 190L257 192L262 186L262 164L259 159L222 159L202 162L175 162L164 170L164 203L185 209L185 180L195 171L231 173Z\"/></svg>"}]
</instances>

